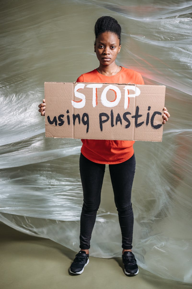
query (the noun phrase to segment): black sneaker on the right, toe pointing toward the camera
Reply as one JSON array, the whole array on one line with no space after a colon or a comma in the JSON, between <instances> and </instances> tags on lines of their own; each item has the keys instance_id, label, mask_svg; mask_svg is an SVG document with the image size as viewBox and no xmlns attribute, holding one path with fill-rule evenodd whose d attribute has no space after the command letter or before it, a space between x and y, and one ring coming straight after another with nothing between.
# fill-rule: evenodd
<instances>
[{"instance_id":1,"label":"black sneaker on the right, toe pointing toward the camera","mask_svg":"<svg viewBox=\"0 0 192 289\"><path fill-rule=\"evenodd\" d=\"M135 260L135 255L130 251L125 251L122 255L122 261L125 267L125 274L129 276L137 275L139 269Z\"/></svg>"}]
</instances>

